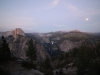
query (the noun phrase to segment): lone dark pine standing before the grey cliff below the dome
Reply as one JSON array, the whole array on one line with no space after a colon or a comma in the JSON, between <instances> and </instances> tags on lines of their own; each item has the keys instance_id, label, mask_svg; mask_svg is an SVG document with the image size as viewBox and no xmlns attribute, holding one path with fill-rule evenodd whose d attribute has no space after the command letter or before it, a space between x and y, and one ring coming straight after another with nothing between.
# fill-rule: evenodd
<instances>
[{"instance_id":1,"label":"lone dark pine standing before the grey cliff below the dome","mask_svg":"<svg viewBox=\"0 0 100 75\"><path fill-rule=\"evenodd\" d=\"M37 60L37 55L36 55L36 47L33 44L33 40L31 39L28 43L28 50L26 51L26 56L30 60L30 63L33 63L33 60Z\"/></svg>"}]
</instances>

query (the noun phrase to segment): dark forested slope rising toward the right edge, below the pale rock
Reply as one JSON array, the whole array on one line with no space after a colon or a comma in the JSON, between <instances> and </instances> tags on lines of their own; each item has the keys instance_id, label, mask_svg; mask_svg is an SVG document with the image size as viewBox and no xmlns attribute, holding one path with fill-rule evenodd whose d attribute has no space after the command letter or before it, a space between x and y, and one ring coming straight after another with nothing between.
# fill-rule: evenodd
<instances>
[{"instance_id":1,"label":"dark forested slope rising toward the right edge, below the pale rock","mask_svg":"<svg viewBox=\"0 0 100 75\"><path fill-rule=\"evenodd\" d=\"M77 68L77 75L99 75L100 74L100 43L95 46L83 44L79 48L74 48L70 52L62 53L55 57L53 61L58 62L56 68L63 68L73 63Z\"/></svg>"}]
</instances>

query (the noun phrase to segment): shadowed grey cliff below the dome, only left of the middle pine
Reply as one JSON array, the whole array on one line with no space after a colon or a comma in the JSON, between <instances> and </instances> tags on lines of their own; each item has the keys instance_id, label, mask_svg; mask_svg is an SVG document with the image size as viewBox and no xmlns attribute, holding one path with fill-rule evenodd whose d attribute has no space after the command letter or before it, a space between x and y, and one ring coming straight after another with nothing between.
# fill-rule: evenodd
<instances>
[{"instance_id":1,"label":"shadowed grey cliff below the dome, only left of the middle pine","mask_svg":"<svg viewBox=\"0 0 100 75\"><path fill-rule=\"evenodd\" d=\"M8 38L8 41L10 39L11 37ZM28 48L28 46L26 45L28 40L29 39L24 36L17 35L17 38L14 38L11 41L9 41L9 47L14 56L19 57L19 58L21 57L24 59L26 58L25 51Z\"/></svg>"}]
</instances>

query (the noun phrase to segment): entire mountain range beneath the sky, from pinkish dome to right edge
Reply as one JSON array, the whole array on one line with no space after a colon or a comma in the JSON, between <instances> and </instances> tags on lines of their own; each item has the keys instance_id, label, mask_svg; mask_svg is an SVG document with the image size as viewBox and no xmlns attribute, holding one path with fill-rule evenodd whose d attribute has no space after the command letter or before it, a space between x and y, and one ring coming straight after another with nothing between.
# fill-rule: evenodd
<instances>
[{"instance_id":1,"label":"entire mountain range beneath the sky, from pinkish dome to right edge","mask_svg":"<svg viewBox=\"0 0 100 75\"><path fill-rule=\"evenodd\" d=\"M45 59L48 53L54 57L61 52L69 52L75 47L85 43L87 46L94 46L100 42L100 33L86 33L78 30L50 33L24 33L22 29L16 28L13 31L1 32L0 36L6 36L13 54L25 58L25 51L30 38L36 43L38 59ZM48 53L47 53L48 52ZM41 60L42 60L41 59Z\"/></svg>"}]
</instances>

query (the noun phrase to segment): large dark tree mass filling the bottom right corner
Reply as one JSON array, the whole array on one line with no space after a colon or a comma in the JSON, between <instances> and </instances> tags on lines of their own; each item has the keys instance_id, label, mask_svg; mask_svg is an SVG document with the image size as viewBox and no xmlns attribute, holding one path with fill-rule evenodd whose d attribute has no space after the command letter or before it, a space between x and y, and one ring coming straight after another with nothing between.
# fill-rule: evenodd
<instances>
[{"instance_id":1,"label":"large dark tree mass filling the bottom right corner","mask_svg":"<svg viewBox=\"0 0 100 75\"><path fill-rule=\"evenodd\" d=\"M75 65L78 75L98 75L100 74L100 45L88 47L82 45L78 48L75 56Z\"/></svg>"}]
</instances>

